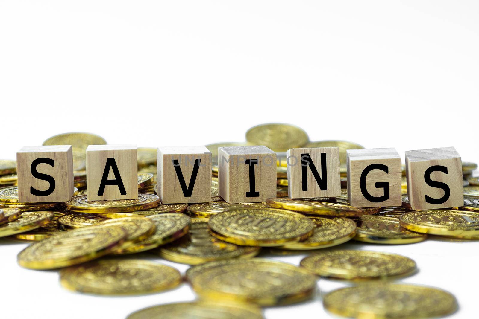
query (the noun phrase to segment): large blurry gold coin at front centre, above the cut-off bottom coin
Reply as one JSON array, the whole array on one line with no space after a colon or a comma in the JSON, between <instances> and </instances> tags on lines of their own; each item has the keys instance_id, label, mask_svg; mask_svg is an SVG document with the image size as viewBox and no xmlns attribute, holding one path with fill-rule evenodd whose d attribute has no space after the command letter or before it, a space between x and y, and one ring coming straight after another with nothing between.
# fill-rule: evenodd
<instances>
[{"instance_id":1,"label":"large blurry gold coin at front centre, above the cut-off bottom coin","mask_svg":"<svg viewBox=\"0 0 479 319\"><path fill-rule=\"evenodd\" d=\"M316 278L292 264L270 259L232 259L194 266L188 281L201 297L261 306L284 305L312 297Z\"/></svg>"}]
</instances>

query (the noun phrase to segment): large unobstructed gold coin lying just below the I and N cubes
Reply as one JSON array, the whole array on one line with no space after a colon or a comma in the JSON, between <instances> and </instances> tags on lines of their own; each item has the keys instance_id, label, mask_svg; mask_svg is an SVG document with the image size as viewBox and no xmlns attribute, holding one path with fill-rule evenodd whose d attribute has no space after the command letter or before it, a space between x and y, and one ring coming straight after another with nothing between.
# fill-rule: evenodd
<instances>
[{"instance_id":1,"label":"large unobstructed gold coin lying just below the I and N cubes","mask_svg":"<svg viewBox=\"0 0 479 319\"><path fill-rule=\"evenodd\" d=\"M216 238L241 246L283 246L308 238L314 223L285 209L230 209L213 215L208 226Z\"/></svg>"}]
</instances>

